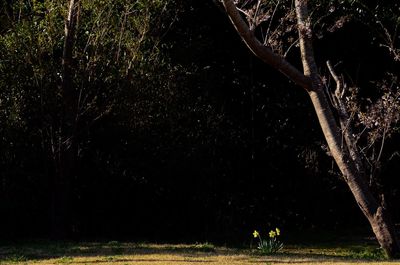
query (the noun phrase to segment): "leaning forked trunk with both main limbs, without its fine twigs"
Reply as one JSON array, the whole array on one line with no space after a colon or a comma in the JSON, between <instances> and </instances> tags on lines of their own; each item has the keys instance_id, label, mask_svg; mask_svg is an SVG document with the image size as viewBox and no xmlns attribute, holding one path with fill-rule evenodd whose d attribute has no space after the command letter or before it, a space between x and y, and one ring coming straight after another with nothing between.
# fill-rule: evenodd
<instances>
[{"instance_id":1,"label":"leaning forked trunk with both main limbs, without its fine twigs","mask_svg":"<svg viewBox=\"0 0 400 265\"><path fill-rule=\"evenodd\" d=\"M332 105L327 100L321 77L314 59L312 46L311 22L308 17L307 0L295 0L297 26L303 63L303 74L284 58L274 54L254 35L238 12L233 0L222 0L225 10L241 38L249 49L264 62L270 64L296 84L302 86L309 94L324 137L328 143L332 157L339 167L343 178L352 192L357 204L368 219L375 236L389 258L400 253L399 241L394 225L385 208L378 203L365 181L360 157L352 143L343 144L342 130L332 112ZM346 136L346 135L344 135ZM345 137L351 141L351 137Z\"/></svg>"}]
</instances>

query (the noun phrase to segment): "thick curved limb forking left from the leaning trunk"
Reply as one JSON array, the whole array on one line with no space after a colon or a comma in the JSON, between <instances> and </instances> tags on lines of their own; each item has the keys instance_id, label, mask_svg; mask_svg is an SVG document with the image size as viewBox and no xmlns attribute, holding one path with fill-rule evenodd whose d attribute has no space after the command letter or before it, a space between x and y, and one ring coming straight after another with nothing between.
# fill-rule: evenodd
<instances>
[{"instance_id":1,"label":"thick curved limb forking left from the leaning trunk","mask_svg":"<svg viewBox=\"0 0 400 265\"><path fill-rule=\"evenodd\" d=\"M249 29L249 26L241 17L232 0L223 0L223 4L232 24L236 28L236 31L257 57L279 70L297 85L303 87L307 91L311 90L312 86L310 78L301 73L283 57L275 54L270 48L264 46Z\"/></svg>"}]
</instances>

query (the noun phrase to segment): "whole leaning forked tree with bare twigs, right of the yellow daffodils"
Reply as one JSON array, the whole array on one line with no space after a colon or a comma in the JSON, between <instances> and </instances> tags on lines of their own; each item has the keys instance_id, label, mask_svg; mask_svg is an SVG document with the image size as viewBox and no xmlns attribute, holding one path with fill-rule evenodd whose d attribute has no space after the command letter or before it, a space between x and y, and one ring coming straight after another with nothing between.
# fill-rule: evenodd
<instances>
[{"instance_id":1,"label":"whole leaning forked tree with bare twigs, right of the yellow daffodils","mask_svg":"<svg viewBox=\"0 0 400 265\"><path fill-rule=\"evenodd\" d=\"M323 75L316 63L313 51L312 29L314 25L308 12L308 1L295 0L293 12L290 12L290 3L286 3L289 6L289 12L279 23L283 27L291 26L298 34L298 40L293 40L286 49L281 40L271 37L271 25L280 1L277 1L272 9L268 8L268 5L262 0L222 0L222 2L232 24L248 48L261 60L285 74L308 93L326 139L329 153L335 160L344 181L368 219L387 256L390 258L397 256L400 253L400 245L385 202L373 194L367 183L367 163L357 146L358 139L351 128L353 126L350 117L351 109L343 97L345 93L348 93L345 80L336 73L331 63L327 62L329 72L336 82L335 91L327 93L326 82L324 82ZM293 24L286 24L285 19L286 22L292 20ZM265 25L267 29L263 30L262 27ZM282 29L278 28L279 30ZM263 37L264 39L260 40ZM285 58L287 51L296 45L300 47L303 72ZM389 48L391 47L389 46ZM283 53L283 50L287 51ZM281 51L280 54L279 51ZM391 48L391 52L393 51L396 50ZM392 124L396 119L398 120L393 117L388 124Z\"/></svg>"}]
</instances>

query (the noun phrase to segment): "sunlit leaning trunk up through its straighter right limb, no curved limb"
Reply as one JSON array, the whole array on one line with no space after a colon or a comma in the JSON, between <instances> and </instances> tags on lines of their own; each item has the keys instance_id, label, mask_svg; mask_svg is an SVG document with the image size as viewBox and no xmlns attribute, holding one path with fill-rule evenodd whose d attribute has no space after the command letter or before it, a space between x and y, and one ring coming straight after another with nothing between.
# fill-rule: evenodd
<instances>
[{"instance_id":1,"label":"sunlit leaning trunk up through its straighter right limb, no curved limb","mask_svg":"<svg viewBox=\"0 0 400 265\"><path fill-rule=\"evenodd\" d=\"M344 180L349 186L358 206L368 219L376 239L386 255L389 258L393 258L400 253L394 225L383 206L379 205L367 185L364 176L365 170L357 170L357 166L360 166L356 163L359 158L351 158L350 151L352 146L347 146L343 143L342 132L332 113L332 105L326 98L314 59L307 0L295 0L295 7L304 75L311 79L312 88L308 93L317 113L322 132L328 143L332 157L342 172Z\"/></svg>"}]
</instances>

